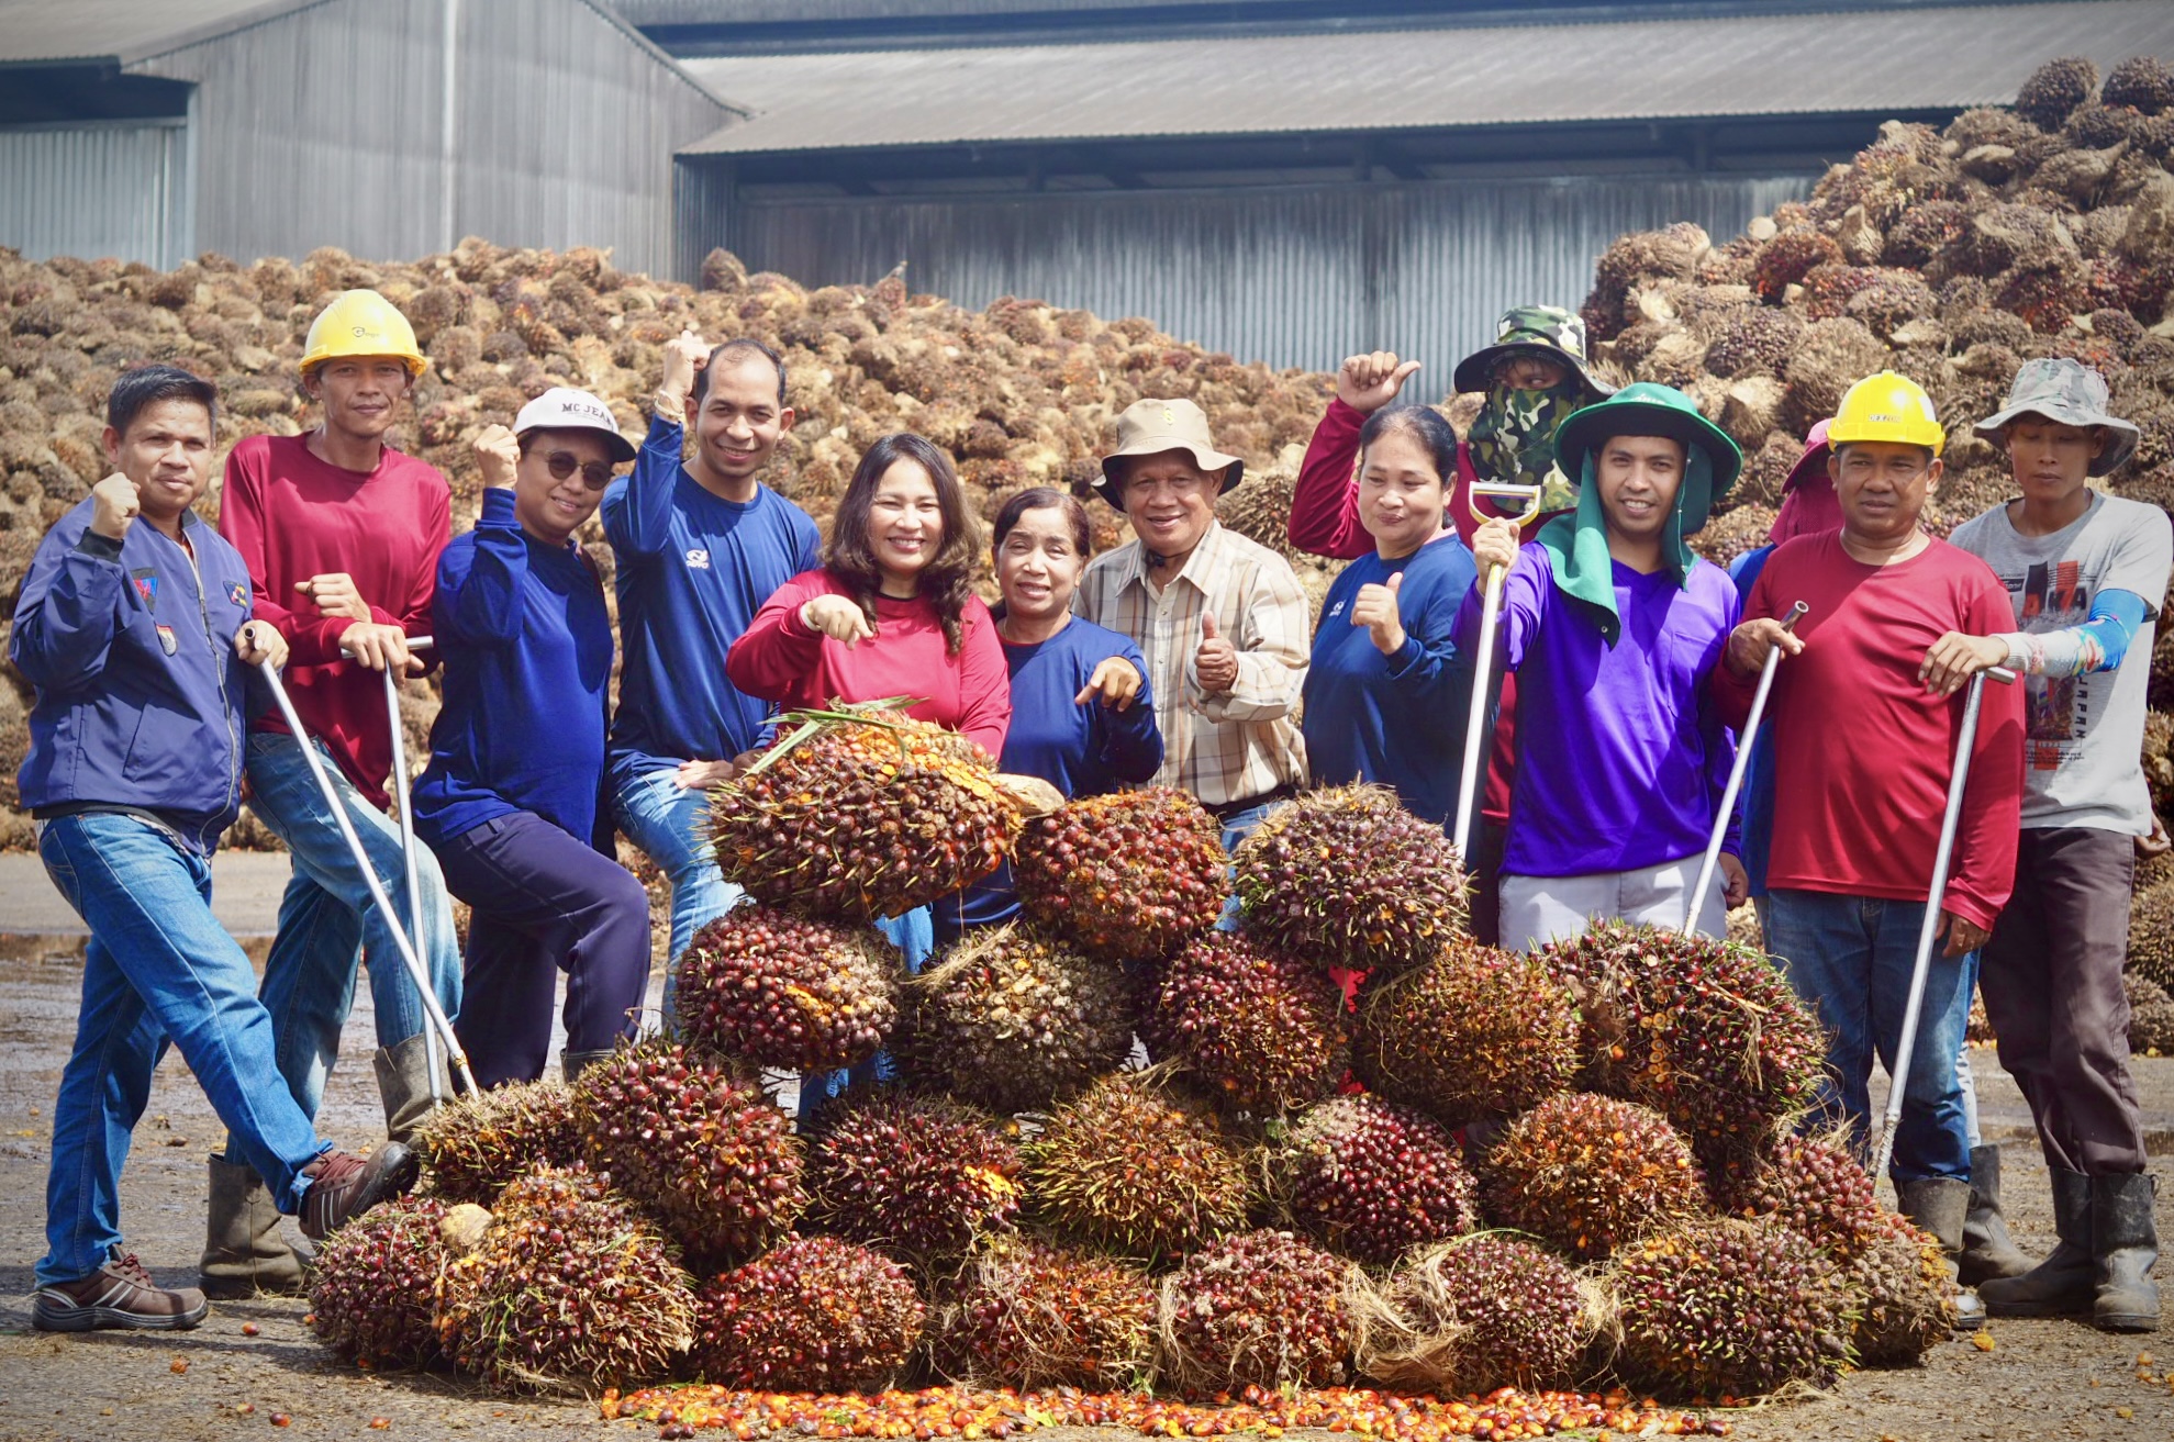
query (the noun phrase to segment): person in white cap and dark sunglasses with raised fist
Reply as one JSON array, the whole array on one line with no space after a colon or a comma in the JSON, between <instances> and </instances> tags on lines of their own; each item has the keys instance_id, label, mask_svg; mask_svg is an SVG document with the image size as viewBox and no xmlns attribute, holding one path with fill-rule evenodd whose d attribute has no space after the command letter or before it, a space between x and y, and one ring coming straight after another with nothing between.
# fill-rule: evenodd
<instances>
[{"instance_id":1,"label":"person in white cap and dark sunglasses with raised fist","mask_svg":"<svg viewBox=\"0 0 2174 1442\"><path fill-rule=\"evenodd\" d=\"M544 1074L561 970L567 1079L635 1033L650 974L648 894L598 826L611 616L574 539L633 459L602 400L544 391L476 437L483 513L437 563L446 705L415 829L474 907L459 1033L487 1087Z\"/></svg>"}]
</instances>

